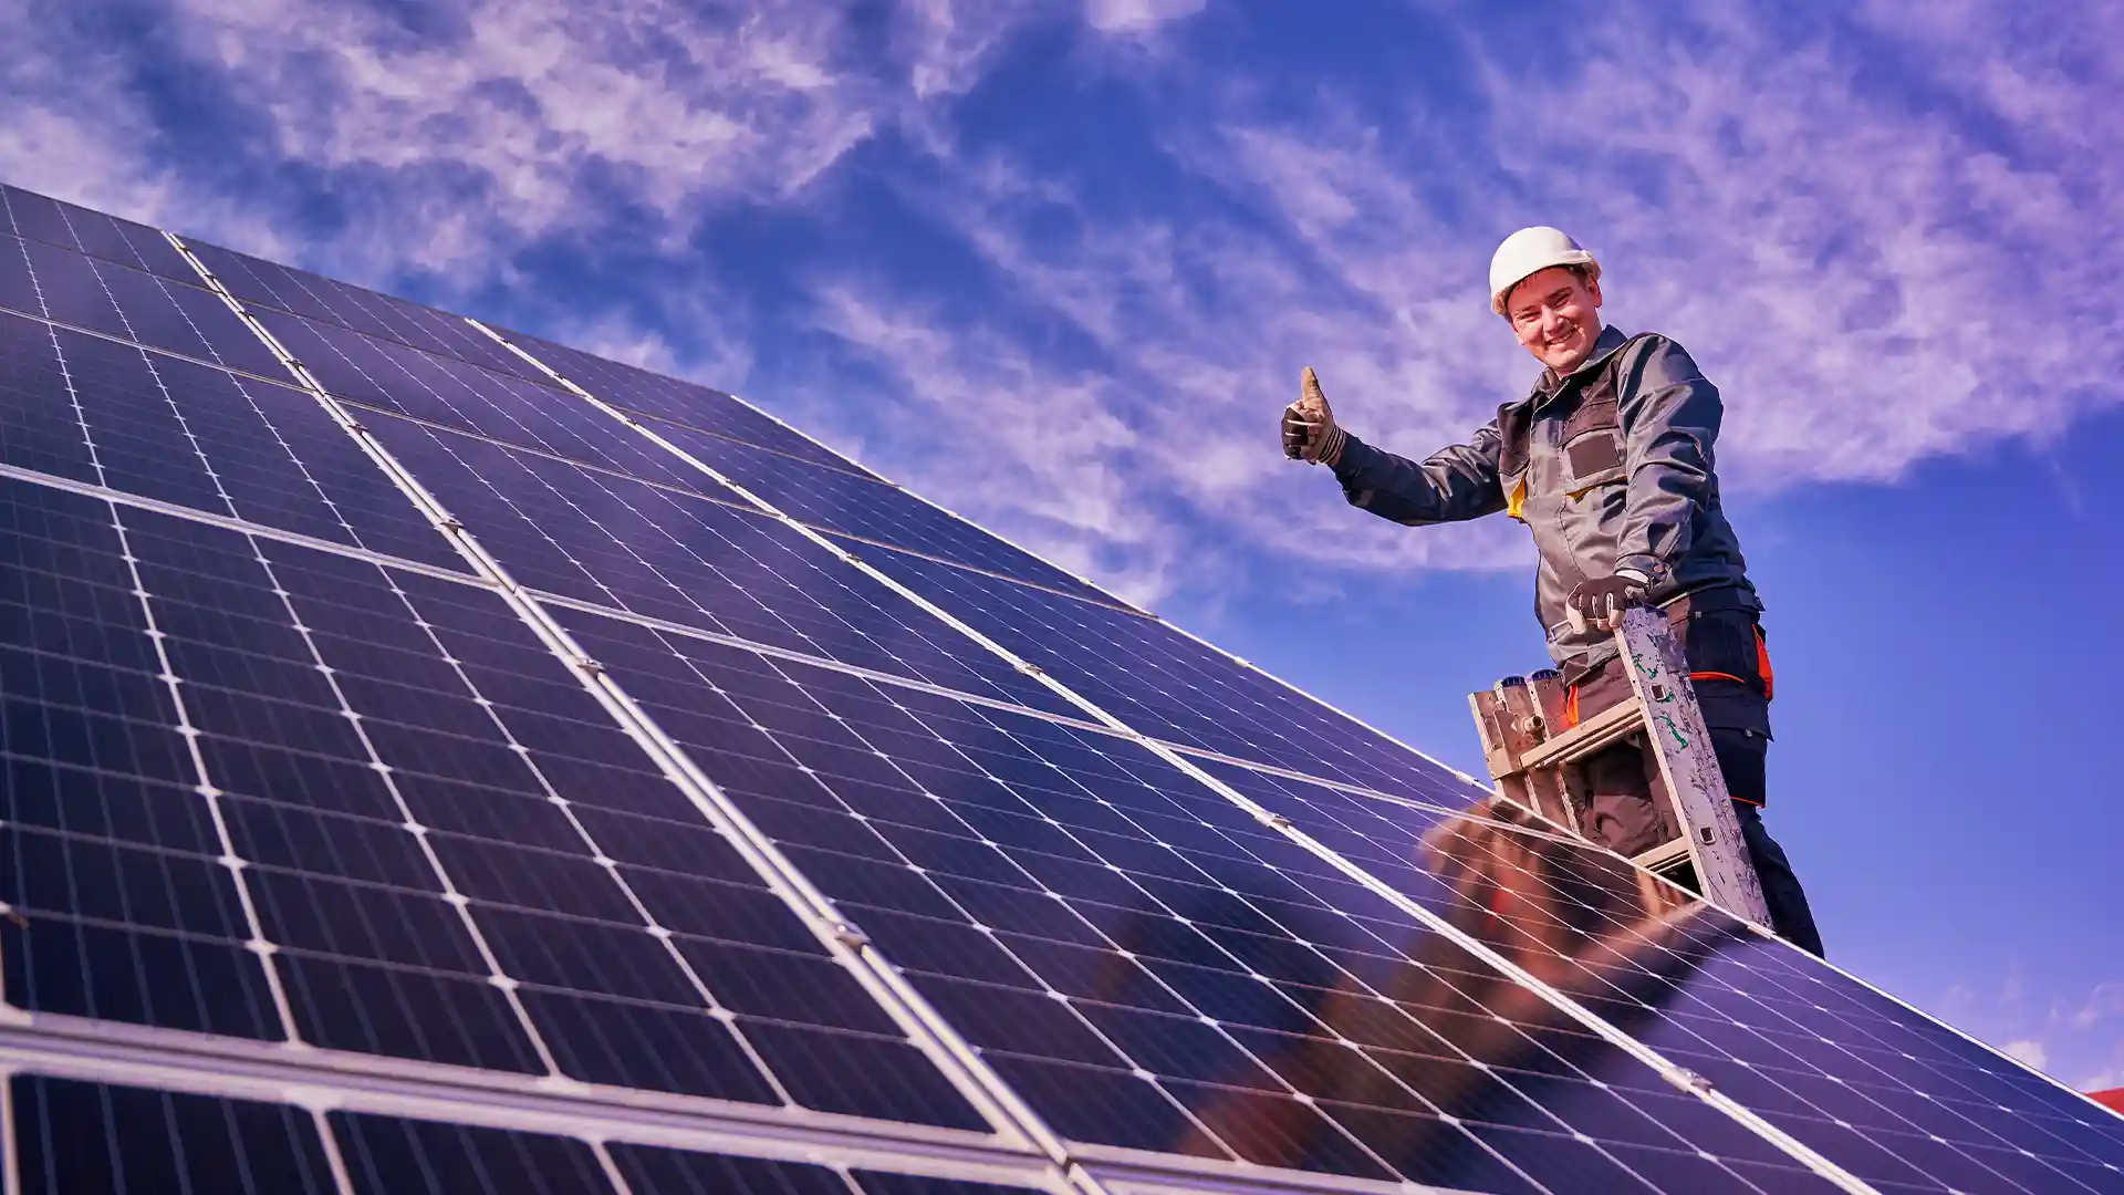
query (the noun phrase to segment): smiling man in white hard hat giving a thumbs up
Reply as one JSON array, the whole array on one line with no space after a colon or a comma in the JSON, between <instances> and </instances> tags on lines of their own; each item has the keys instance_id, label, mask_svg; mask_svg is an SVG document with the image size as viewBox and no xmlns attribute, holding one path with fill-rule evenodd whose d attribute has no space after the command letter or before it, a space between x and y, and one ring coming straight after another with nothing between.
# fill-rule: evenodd
<instances>
[{"instance_id":1,"label":"smiling man in white hard hat giving a thumbs up","mask_svg":"<svg viewBox=\"0 0 2124 1195\"><path fill-rule=\"evenodd\" d=\"M1504 510L1540 553L1536 615L1576 717L1629 695L1610 634L1625 606L1667 610L1763 880L1771 927L1822 953L1808 897L1763 829L1771 670L1740 542L1718 502L1718 389L1680 344L1601 321L1599 262L1555 228L1525 228L1489 266L1491 310L1544 370L1466 444L1410 461L1336 423L1308 368L1283 413L1291 459L1325 464L1353 506L1410 527ZM1638 748L1585 763L1589 834L1623 855L1672 836Z\"/></svg>"}]
</instances>

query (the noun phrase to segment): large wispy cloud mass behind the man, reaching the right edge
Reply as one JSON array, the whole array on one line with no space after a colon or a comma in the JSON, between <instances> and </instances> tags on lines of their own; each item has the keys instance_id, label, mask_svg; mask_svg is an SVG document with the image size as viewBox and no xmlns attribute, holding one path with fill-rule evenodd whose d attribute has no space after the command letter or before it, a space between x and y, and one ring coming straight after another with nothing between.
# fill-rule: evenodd
<instances>
[{"instance_id":1,"label":"large wispy cloud mass behind the man, reaching the right edge","mask_svg":"<svg viewBox=\"0 0 2124 1195\"><path fill-rule=\"evenodd\" d=\"M1162 549L1189 559L1525 561L1508 529L1410 536L1340 508L1325 478L1294 481L1270 430L1302 364L1353 430L1410 455L1521 393L1536 366L1487 313L1483 270L1523 223L1601 251L1610 315L1674 334L1720 385L1733 493L1897 481L2116 402L2116 319L2088 298L2124 247L2090 236L2088 213L2124 181L2113 134L2092 132L2124 79L2113 55L2043 68L2113 15L2007 30L2011 6L1967 4L1984 19L1831 34L1652 9L1587 23L1563 55L1525 55L1523 30L1468 34L1476 91L1449 102L1370 77L1264 96L1196 68L1196 104L1151 130L1183 176L1164 211L1094 208L1070 170L996 151L947 151L928 206L1011 302L1090 338L1115 385L1062 385L1041 355L1013 368L1138 430L1126 485L1196 515ZM2007 32L2018 51L1994 55ZM1882 55L1937 70L1895 87ZM1000 393L973 385L979 353L945 368ZM941 483L1005 523L1026 502Z\"/></svg>"}]
</instances>

